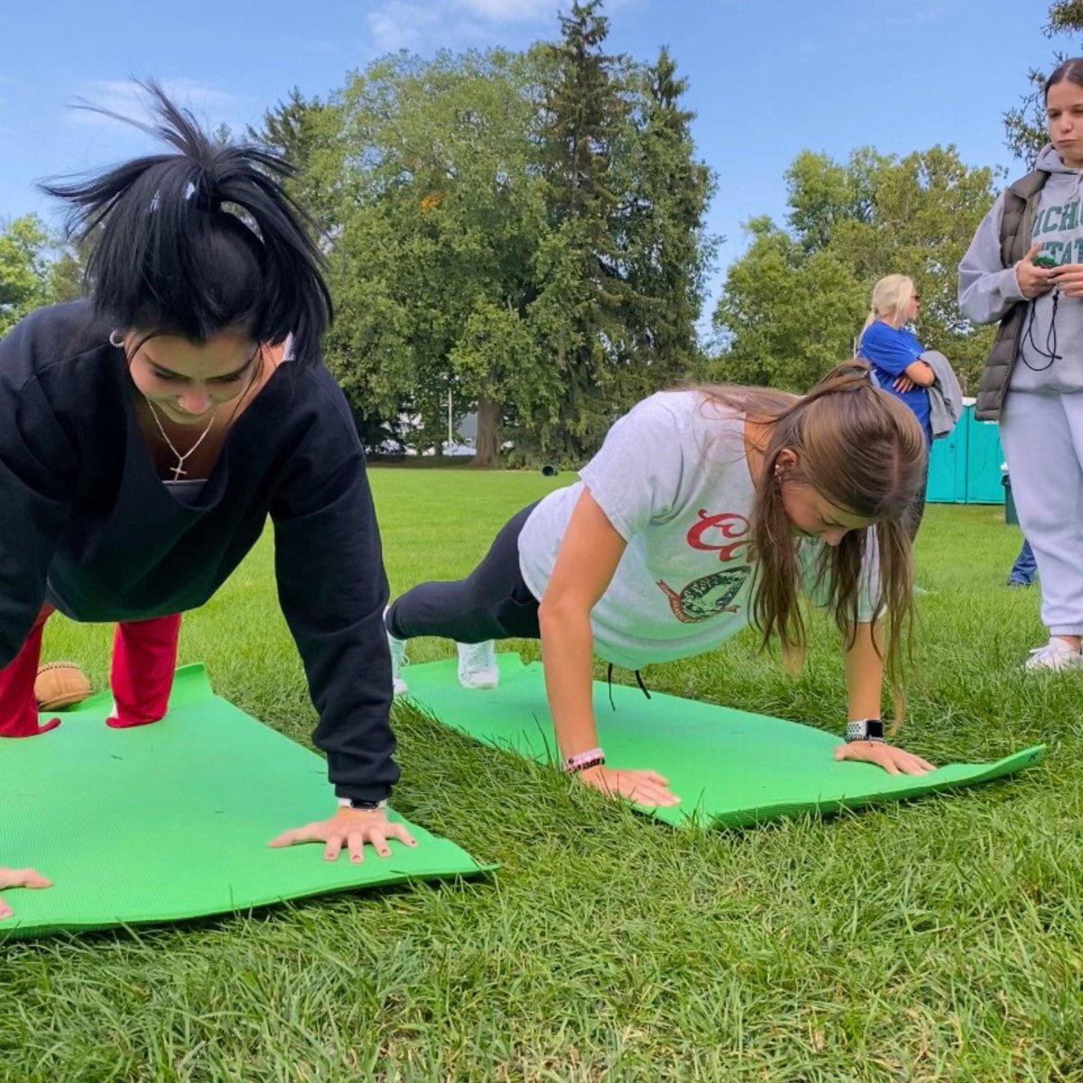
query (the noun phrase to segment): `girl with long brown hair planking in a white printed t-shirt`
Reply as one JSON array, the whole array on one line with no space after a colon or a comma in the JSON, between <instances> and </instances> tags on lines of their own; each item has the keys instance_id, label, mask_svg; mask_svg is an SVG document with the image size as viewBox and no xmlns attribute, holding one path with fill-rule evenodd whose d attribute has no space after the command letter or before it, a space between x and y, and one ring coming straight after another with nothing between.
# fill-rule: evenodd
<instances>
[{"instance_id":1,"label":"girl with long brown hair planking in a white printed t-shirt","mask_svg":"<svg viewBox=\"0 0 1083 1083\"><path fill-rule=\"evenodd\" d=\"M388 610L395 690L405 640L458 641L459 680L492 688L492 640L540 638L566 770L644 805L680 798L598 746L592 655L638 670L713 650L749 623L799 664L799 593L843 634L847 743L839 759L895 774L931 765L884 741L885 658L901 706L911 616L908 509L925 477L913 413L849 362L804 396L756 388L665 391L609 431L580 481L518 512L481 564ZM878 618L887 617L886 645Z\"/></svg>"}]
</instances>

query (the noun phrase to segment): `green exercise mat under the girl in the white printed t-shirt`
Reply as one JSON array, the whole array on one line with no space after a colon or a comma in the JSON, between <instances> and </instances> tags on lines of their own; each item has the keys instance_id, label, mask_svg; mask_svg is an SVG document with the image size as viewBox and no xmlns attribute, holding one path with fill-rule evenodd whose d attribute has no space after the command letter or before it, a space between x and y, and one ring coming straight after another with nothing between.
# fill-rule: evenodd
<instances>
[{"instance_id":1,"label":"green exercise mat under the girl in the white printed t-shirt","mask_svg":"<svg viewBox=\"0 0 1083 1083\"><path fill-rule=\"evenodd\" d=\"M538 760L556 760L542 666L501 654L499 688L464 689L456 663L430 662L403 671L408 699L445 726ZM841 741L797 722L731 710L637 688L595 682L599 741L610 765L650 768L669 780L681 804L653 810L679 823L705 817L731 827L831 812L968 786L1036 764L1036 745L994 764L952 764L924 775L891 775L872 764L838 762Z\"/></svg>"}]
</instances>

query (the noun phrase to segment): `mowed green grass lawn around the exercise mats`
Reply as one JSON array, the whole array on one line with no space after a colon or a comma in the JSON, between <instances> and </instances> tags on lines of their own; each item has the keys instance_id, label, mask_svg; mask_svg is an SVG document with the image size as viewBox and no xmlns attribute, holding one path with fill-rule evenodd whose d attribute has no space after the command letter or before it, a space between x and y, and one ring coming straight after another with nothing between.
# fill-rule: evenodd
<instances>
[{"instance_id":1,"label":"mowed green grass lawn around the exercise mats","mask_svg":"<svg viewBox=\"0 0 1083 1083\"><path fill-rule=\"evenodd\" d=\"M393 591L465 574L512 511L572 480L371 479ZM1001 518L928 510L901 741L941 761L1047 742L1038 768L828 820L677 831L397 707L395 806L496 874L0 945L0 1078L1083 1079L1083 674L1022 676L1039 597L1003 586L1019 533ZM185 619L181 661L306 742L271 554L268 536ZM645 676L839 732L837 640L815 630L798 680L751 634ZM109 637L56 621L47 656L78 658L101 687ZM79 794L56 800L57 830L93 847Z\"/></svg>"}]
</instances>

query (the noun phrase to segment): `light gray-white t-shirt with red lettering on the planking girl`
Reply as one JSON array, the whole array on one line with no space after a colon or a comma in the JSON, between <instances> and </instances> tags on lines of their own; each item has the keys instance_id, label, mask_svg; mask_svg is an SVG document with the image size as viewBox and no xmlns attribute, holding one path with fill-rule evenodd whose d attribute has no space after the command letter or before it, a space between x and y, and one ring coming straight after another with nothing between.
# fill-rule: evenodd
<instances>
[{"instance_id":1,"label":"light gray-white t-shirt with red lettering on the planking girl","mask_svg":"<svg viewBox=\"0 0 1083 1083\"><path fill-rule=\"evenodd\" d=\"M748 624L753 484L743 414L697 391L663 391L610 429L579 477L531 512L519 536L519 565L540 599L586 486L627 543L590 613L600 657L639 669L713 650ZM822 548L801 543L810 593ZM875 546L866 549L871 563ZM865 580L872 582L869 571ZM866 585L862 621L872 615L869 595Z\"/></svg>"}]
</instances>

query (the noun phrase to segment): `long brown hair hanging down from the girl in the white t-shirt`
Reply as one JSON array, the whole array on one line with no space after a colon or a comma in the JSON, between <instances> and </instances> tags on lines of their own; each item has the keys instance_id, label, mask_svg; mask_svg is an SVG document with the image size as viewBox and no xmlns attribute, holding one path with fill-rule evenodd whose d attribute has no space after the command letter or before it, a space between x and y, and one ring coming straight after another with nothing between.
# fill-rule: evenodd
<instances>
[{"instance_id":1,"label":"long brown hair hanging down from the girl in the white t-shirt","mask_svg":"<svg viewBox=\"0 0 1083 1083\"><path fill-rule=\"evenodd\" d=\"M699 390L767 428L762 465L753 479L753 623L765 645L778 637L792 667L799 668L804 661L806 631L799 599L800 542L783 508L782 485L807 485L840 510L874 524L872 532L850 531L839 545L824 546L819 592L852 644L864 590L866 537L875 537L879 584L873 621L886 615L884 656L898 721L904 705L903 643L913 629L906 521L925 478L925 435L916 418L898 399L876 388L869 366L857 358L832 369L801 397L766 388ZM784 448L797 455L785 482L774 471Z\"/></svg>"}]
</instances>

